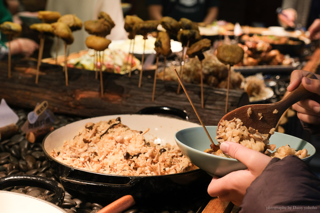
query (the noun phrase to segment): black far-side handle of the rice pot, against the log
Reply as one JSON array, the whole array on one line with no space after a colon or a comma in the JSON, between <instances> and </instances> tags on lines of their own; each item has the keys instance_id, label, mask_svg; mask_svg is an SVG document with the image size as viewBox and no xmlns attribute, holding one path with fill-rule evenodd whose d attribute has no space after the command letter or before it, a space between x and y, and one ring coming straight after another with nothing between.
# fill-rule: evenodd
<instances>
[{"instance_id":1,"label":"black far-side handle of the rice pot, against the log","mask_svg":"<svg viewBox=\"0 0 320 213\"><path fill-rule=\"evenodd\" d=\"M175 115L182 119L189 120L189 115L186 110L180 110L174 107L152 106L152 107L143 108L139 112L137 112L137 114L146 114L146 115L151 115L156 113Z\"/></svg>"}]
</instances>

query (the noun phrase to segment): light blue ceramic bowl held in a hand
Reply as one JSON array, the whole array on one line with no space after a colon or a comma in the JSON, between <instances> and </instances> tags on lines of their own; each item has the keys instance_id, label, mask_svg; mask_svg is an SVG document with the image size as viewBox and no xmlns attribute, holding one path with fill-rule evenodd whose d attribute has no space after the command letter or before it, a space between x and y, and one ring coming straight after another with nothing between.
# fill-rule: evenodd
<instances>
[{"instance_id":1,"label":"light blue ceramic bowl held in a hand","mask_svg":"<svg viewBox=\"0 0 320 213\"><path fill-rule=\"evenodd\" d=\"M206 128L213 142L218 144L214 139L217 126L206 126ZM181 152L193 164L211 176L217 175L222 177L232 171L246 169L246 166L236 159L205 153L204 150L210 148L211 142L202 126L179 130L175 133L174 138ZM295 148L296 150L306 148L308 154L310 154L310 156L302 159L306 163L308 163L316 153L316 148L307 141L283 133L275 132L270 137L270 144L276 144L276 148L286 144L289 144L291 148Z\"/></svg>"}]
</instances>

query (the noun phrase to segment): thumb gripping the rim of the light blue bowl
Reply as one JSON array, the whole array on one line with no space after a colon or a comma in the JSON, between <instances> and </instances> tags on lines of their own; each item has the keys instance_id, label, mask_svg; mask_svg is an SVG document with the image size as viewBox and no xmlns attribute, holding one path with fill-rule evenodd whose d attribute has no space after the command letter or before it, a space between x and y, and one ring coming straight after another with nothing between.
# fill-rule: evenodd
<instances>
[{"instance_id":1,"label":"thumb gripping the rim of the light blue bowl","mask_svg":"<svg viewBox=\"0 0 320 213\"><path fill-rule=\"evenodd\" d=\"M271 160L271 157L235 142L222 142L220 149L226 155L242 162L252 172L261 173Z\"/></svg>"}]
</instances>

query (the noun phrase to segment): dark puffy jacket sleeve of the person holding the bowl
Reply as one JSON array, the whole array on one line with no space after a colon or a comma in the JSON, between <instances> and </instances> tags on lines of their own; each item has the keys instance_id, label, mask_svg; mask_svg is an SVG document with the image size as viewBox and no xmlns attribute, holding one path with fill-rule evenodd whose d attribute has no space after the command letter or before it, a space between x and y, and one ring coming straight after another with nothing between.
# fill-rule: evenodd
<instances>
[{"instance_id":1,"label":"dark puffy jacket sleeve of the person holding the bowl","mask_svg":"<svg viewBox=\"0 0 320 213\"><path fill-rule=\"evenodd\" d=\"M320 212L320 179L297 156L273 158L247 189L240 209L240 213Z\"/></svg>"}]
</instances>

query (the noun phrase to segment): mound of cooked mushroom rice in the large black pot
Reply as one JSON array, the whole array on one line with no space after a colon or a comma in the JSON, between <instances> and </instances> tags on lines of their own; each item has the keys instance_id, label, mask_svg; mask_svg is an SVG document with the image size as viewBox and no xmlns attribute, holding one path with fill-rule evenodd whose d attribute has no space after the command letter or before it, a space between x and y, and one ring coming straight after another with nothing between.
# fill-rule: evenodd
<instances>
[{"instance_id":1,"label":"mound of cooked mushroom rice in the large black pot","mask_svg":"<svg viewBox=\"0 0 320 213\"><path fill-rule=\"evenodd\" d=\"M149 176L197 169L177 145L146 141L120 118L87 123L73 139L53 149L51 156L79 169L115 175Z\"/></svg>"}]
</instances>

